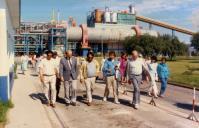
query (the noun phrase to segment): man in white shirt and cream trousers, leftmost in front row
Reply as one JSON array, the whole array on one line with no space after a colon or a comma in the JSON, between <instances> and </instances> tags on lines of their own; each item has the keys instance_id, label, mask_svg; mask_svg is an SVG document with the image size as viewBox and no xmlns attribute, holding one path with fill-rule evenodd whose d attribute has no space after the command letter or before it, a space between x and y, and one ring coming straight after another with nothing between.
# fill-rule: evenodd
<instances>
[{"instance_id":1,"label":"man in white shirt and cream trousers, leftmost in front row","mask_svg":"<svg viewBox=\"0 0 199 128\"><path fill-rule=\"evenodd\" d=\"M55 60L52 59L53 52L47 51L47 57L42 59L39 65L39 73L40 73L40 80L44 85L44 94L47 98L47 106L51 105L55 107L56 102L56 75L57 75L57 67L55 64ZM50 95L49 95L50 89ZM51 100L51 101L49 101Z\"/></svg>"}]
</instances>

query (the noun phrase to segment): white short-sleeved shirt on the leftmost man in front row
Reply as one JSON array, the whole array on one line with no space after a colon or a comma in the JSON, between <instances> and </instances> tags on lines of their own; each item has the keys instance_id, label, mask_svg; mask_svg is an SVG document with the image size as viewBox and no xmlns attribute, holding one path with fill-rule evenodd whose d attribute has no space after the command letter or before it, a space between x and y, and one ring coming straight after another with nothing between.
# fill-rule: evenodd
<instances>
[{"instance_id":1,"label":"white short-sleeved shirt on the leftmost man in front row","mask_svg":"<svg viewBox=\"0 0 199 128\"><path fill-rule=\"evenodd\" d=\"M47 60L45 58L41 60L39 68L42 69L43 75L55 75L55 69L57 68L57 65L54 59Z\"/></svg>"}]
</instances>

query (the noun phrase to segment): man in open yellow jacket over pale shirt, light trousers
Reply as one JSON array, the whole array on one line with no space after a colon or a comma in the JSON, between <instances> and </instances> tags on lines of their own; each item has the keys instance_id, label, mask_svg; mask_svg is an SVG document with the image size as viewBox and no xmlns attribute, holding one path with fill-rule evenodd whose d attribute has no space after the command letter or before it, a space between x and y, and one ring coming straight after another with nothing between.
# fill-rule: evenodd
<instances>
[{"instance_id":1,"label":"man in open yellow jacket over pale shirt, light trousers","mask_svg":"<svg viewBox=\"0 0 199 128\"><path fill-rule=\"evenodd\" d=\"M95 80L99 73L99 63L94 59L94 53L89 52L87 54L86 62L82 65L81 68L81 82L85 82L86 93L88 98L88 106L91 106L92 103L92 92L95 86Z\"/></svg>"}]
</instances>

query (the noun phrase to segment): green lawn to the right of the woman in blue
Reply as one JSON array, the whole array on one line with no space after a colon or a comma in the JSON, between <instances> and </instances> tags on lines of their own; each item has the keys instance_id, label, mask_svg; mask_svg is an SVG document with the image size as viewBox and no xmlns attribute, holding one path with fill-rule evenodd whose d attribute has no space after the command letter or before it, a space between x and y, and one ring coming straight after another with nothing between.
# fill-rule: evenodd
<instances>
[{"instance_id":1,"label":"green lawn to the right of the woman in blue","mask_svg":"<svg viewBox=\"0 0 199 128\"><path fill-rule=\"evenodd\" d=\"M178 60L168 62L170 81L199 88L199 60Z\"/></svg>"}]
</instances>

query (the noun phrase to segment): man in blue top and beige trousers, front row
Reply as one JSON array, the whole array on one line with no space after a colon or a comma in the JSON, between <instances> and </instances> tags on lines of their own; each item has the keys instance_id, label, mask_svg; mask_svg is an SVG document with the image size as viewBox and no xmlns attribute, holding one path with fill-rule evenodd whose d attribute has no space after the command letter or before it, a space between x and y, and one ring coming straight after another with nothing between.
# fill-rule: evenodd
<instances>
[{"instance_id":1,"label":"man in blue top and beige trousers, front row","mask_svg":"<svg viewBox=\"0 0 199 128\"><path fill-rule=\"evenodd\" d=\"M116 67L119 67L119 62L115 60L115 52L111 51L109 52L109 58L104 62L103 66L103 74L106 79L106 87L104 91L104 98L103 101L107 101L107 97L110 92L110 87L112 86L113 88L113 96L115 98L114 102L116 104L119 104L120 102L118 101L118 94L117 94L117 82L115 79L115 70Z\"/></svg>"}]
</instances>

